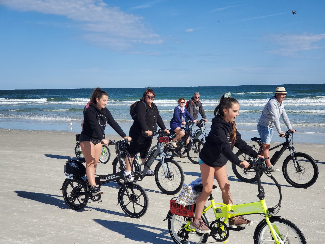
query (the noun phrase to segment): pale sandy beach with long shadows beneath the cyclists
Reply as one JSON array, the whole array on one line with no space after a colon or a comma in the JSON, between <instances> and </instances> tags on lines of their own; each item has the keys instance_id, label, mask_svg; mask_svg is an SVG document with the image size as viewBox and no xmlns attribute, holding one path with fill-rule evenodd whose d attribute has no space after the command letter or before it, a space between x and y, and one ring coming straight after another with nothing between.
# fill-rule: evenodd
<instances>
[{"instance_id":1,"label":"pale sandy beach with long shadows beneath the cyclists","mask_svg":"<svg viewBox=\"0 0 325 244\"><path fill-rule=\"evenodd\" d=\"M107 135L108 139L120 138ZM155 139L154 139L155 143ZM252 144L251 142L248 142ZM1 190L0 190L0 243L174 243L167 221L163 222L173 196L160 192L154 177L142 182L149 196L149 208L140 219L127 217L117 205L119 186L109 183L102 187L102 202L88 203L85 209L71 210L62 197L65 180L63 165L75 157L75 133L53 131L27 131L0 129ZM307 243L323 244L325 240L325 152L324 144L295 143L297 152L312 156L318 164L317 182L307 189L294 188L287 183L281 172L273 173L282 189L282 206L279 216L296 224L307 239ZM107 164L99 164L99 174L112 172L114 148ZM235 149L234 149L235 150ZM281 157L277 165L288 155ZM190 183L200 176L199 166L179 159L185 182ZM240 182L227 164L228 177L234 203L257 201L257 185ZM278 189L272 180L262 177L266 203L272 207L278 203ZM215 182L215 184L217 184ZM213 191L216 202L221 200L219 189ZM209 221L213 217L207 214ZM252 226L240 232L231 231L229 244L253 243L260 215L251 215ZM214 242L209 237L208 242Z\"/></svg>"}]
</instances>

